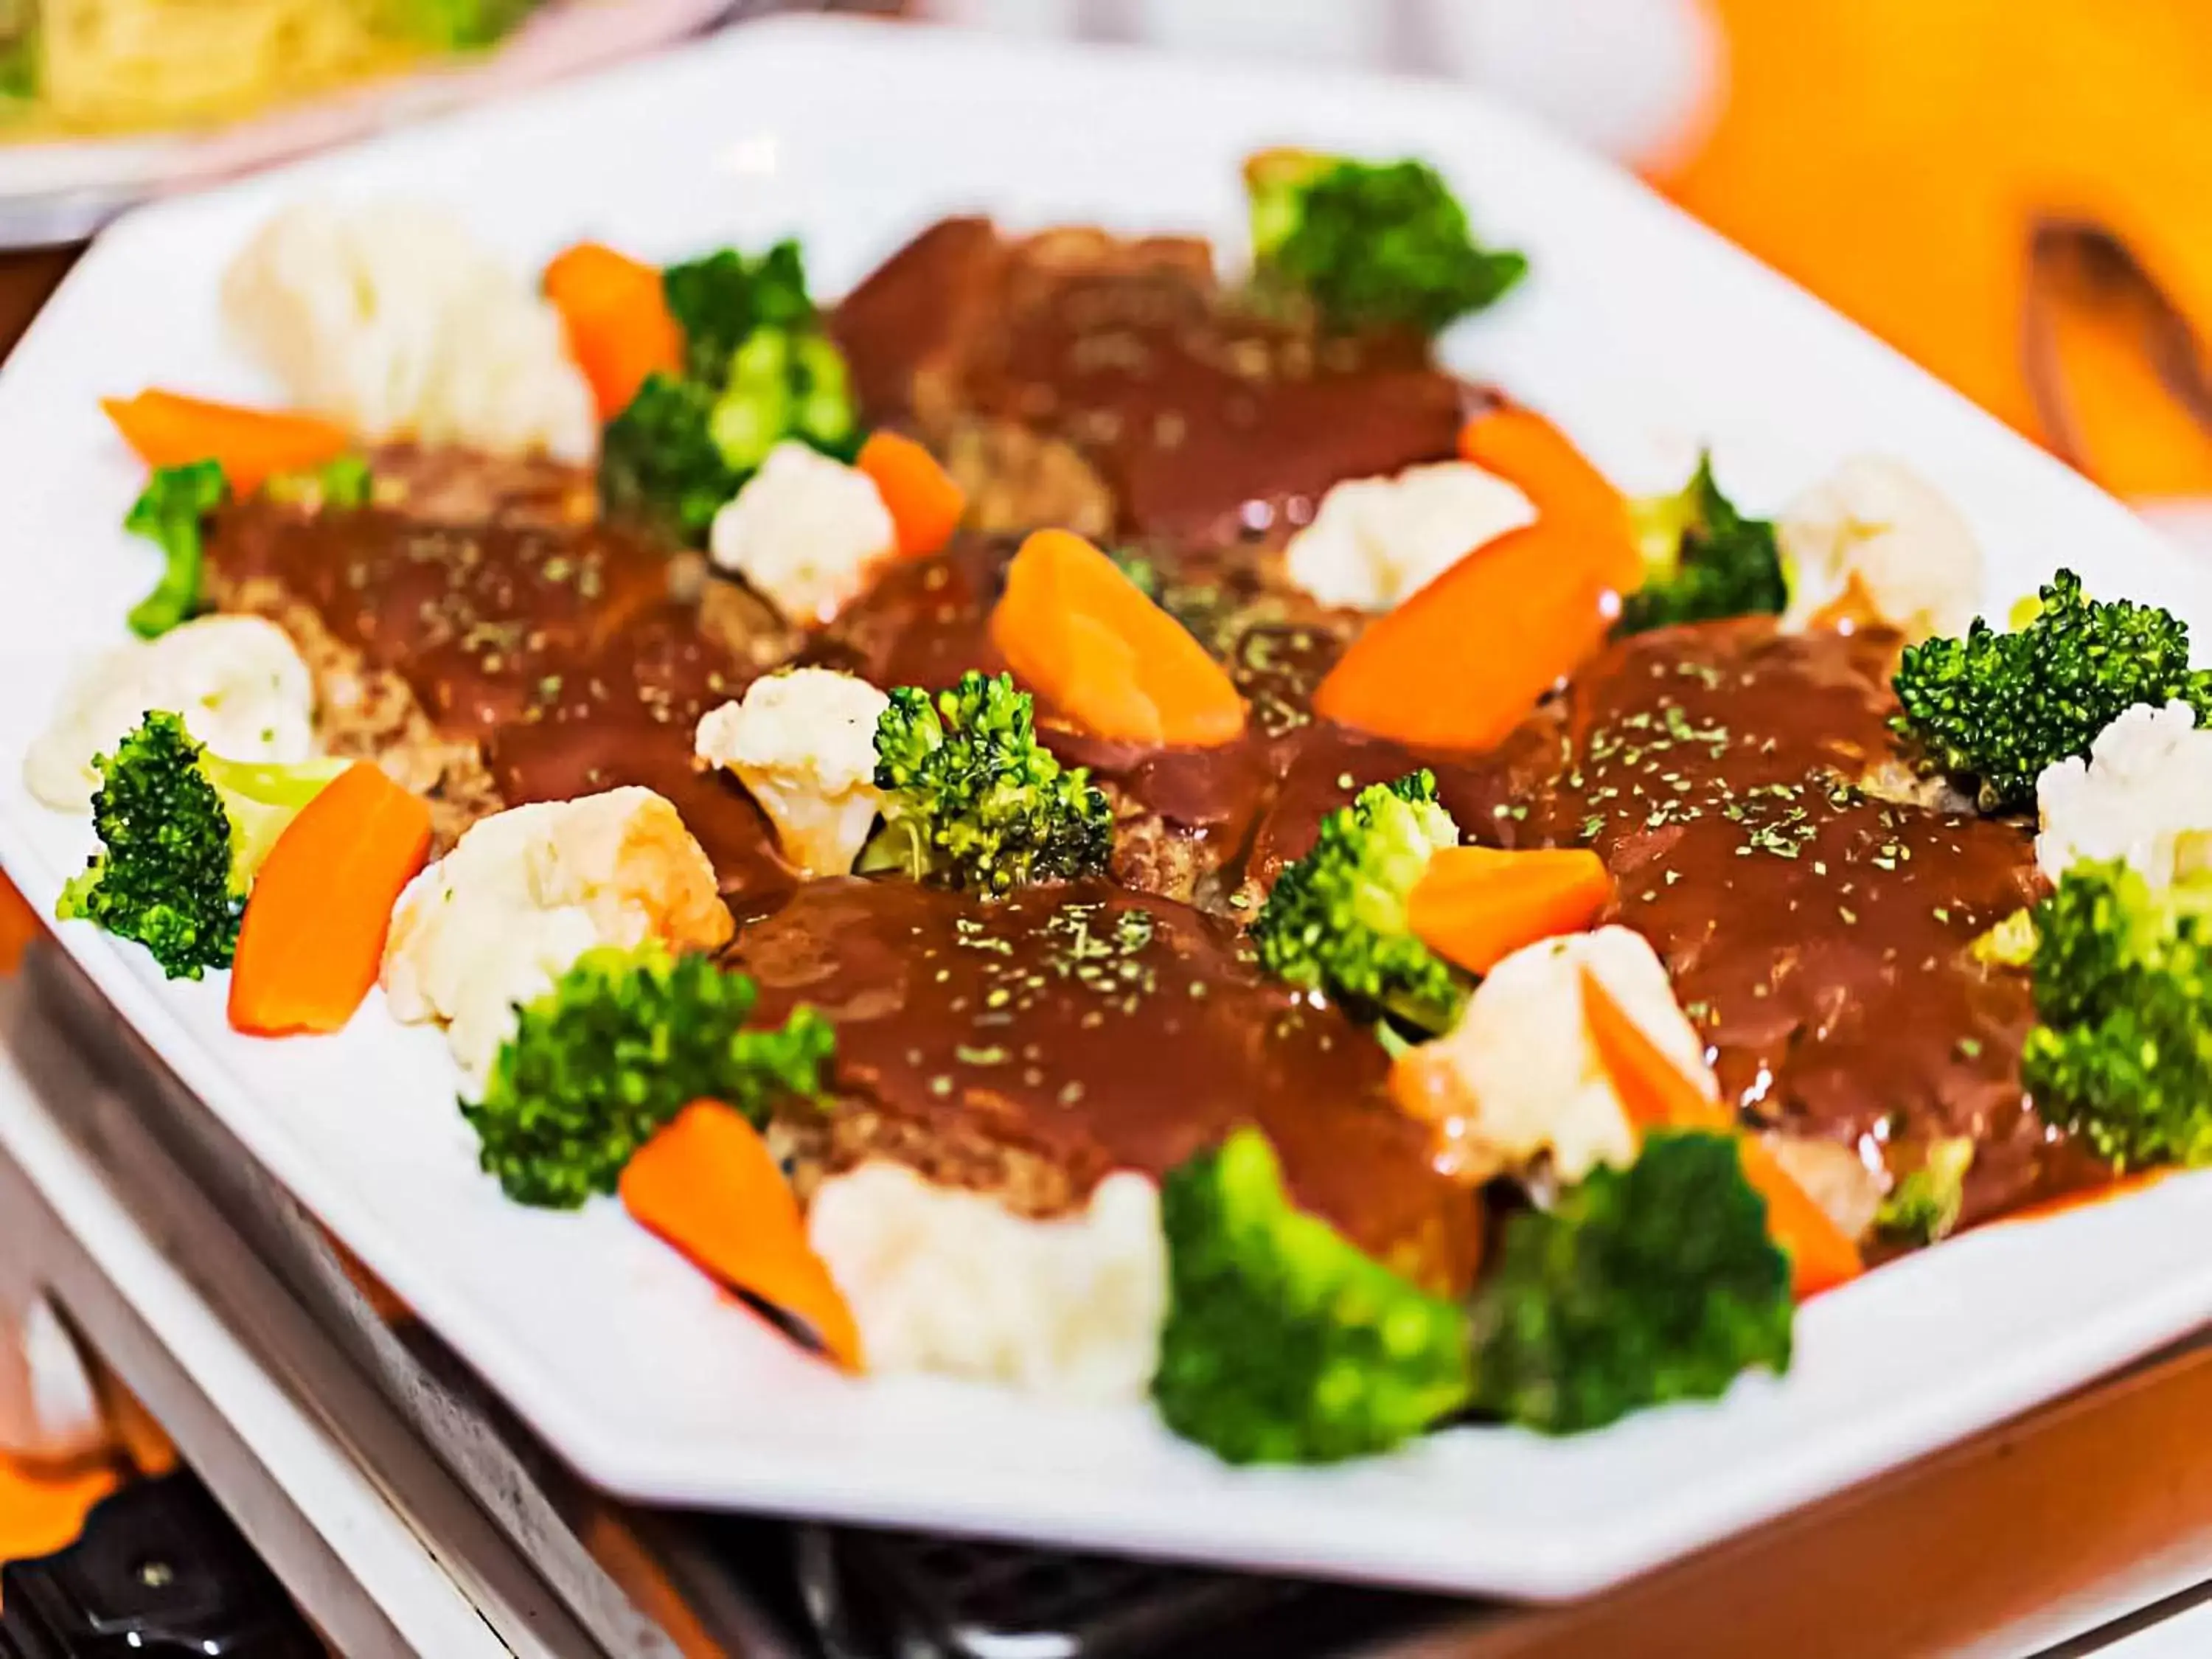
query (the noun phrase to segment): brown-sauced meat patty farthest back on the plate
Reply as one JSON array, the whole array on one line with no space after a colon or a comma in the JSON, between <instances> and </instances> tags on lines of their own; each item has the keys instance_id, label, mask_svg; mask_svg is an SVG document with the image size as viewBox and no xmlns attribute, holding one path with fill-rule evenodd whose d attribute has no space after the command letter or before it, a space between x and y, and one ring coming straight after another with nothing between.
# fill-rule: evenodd
<instances>
[{"instance_id":1,"label":"brown-sauced meat patty farthest back on the plate","mask_svg":"<svg viewBox=\"0 0 2212 1659\"><path fill-rule=\"evenodd\" d=\"M1303 524L1343 478L1453 453L1478 396L1418 341L1316 338L1234 303L1197 239L980 219L925 230L832 323L869 420L1009 422L1073 447L1121 533Z\"/></svg>"}]
</instances>

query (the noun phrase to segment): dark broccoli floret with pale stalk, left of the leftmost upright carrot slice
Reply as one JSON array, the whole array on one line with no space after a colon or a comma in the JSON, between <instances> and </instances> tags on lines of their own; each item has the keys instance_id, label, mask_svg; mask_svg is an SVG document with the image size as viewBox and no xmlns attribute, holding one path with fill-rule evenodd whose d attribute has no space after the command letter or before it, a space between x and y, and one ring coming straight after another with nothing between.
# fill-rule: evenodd
<instances>
[{"instance_id":1,"label":"dark broccoli floret with pale stalk, left of the leftmost upright carrot slice","mask_svg":"<svg viewBox=\"0 0 2212 1659\"><path fill-rule=\"evenodd\" d=\"M93 765L102 849L62 889L55 916L137 940L168 978L197 980L230 967L254 872L349 763L226 761L195 743L177 714L148 712Z\"/></svg>"}]
</instances>

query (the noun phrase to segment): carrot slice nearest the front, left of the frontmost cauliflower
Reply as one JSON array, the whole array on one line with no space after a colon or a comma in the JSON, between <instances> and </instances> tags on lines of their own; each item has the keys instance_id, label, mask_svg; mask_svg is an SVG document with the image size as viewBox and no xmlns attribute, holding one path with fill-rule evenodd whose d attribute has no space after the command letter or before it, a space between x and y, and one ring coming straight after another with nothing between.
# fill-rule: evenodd
<instances>
[{"instance_id":1,"label":"carrot slice nearest the front, left of the frontmost cauliflower","mask_svg":"<svg viewBox=\"0 0 2212 1659\"><path fill-rule=\"evenodd\" d=\"M695 1099L624 1166L622 1203L695 1267L803 1321L830 1358L860 1369L860 1327L743 1113Z\"/></svg>"}]
</instances>

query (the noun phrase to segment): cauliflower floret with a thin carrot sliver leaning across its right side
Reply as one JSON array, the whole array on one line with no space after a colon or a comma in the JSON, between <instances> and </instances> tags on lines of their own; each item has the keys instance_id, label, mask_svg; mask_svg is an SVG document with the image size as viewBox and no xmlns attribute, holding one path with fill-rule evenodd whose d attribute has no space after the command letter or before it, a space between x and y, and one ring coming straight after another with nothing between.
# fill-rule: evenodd
<instances>
[{"instance_id":1,"label":"cauliflower floret with a thin carrot sliver leaning across its right side","mask_svg":"<svg viewBox=\"0 0 2212 1659\"><path fill-rule=\"evenodd\" d=\"M1400 1099L1418 1099L1438 1166L1469 1183L1520 1172L1546 1152L1562 1181L1635 1159L1637 1133L1582 1013L1582 969L1683 1075L1714 1088L1705 1044L1674 1004L1641 933L1601 927L1513 951L1491 969L1449 1035L1409 1051Z\"/></svg>"}]
</instances>

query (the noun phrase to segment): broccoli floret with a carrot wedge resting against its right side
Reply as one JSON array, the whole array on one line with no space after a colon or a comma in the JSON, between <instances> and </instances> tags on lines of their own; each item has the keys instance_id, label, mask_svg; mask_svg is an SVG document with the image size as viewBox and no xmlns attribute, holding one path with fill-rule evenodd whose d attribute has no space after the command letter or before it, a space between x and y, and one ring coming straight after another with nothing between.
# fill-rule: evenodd
<instances>
[{"instance_id":1,"label":"broccoli floret with a carrot wedge resting against its right side","mask_svg":"<svg viewBox=\"0 0 2212 1659\"><path fill-rule=\"evenodd\" d=\"M1433 772L1360 790L1323 818L1314 849L1276 876L1252 922L1261 967L1413 1031L1449 1031L1467 980L1413 938L1407 898L1429 856L1458 841L1460 825L1436 803Z\"/></svg>"}]
</instances>

